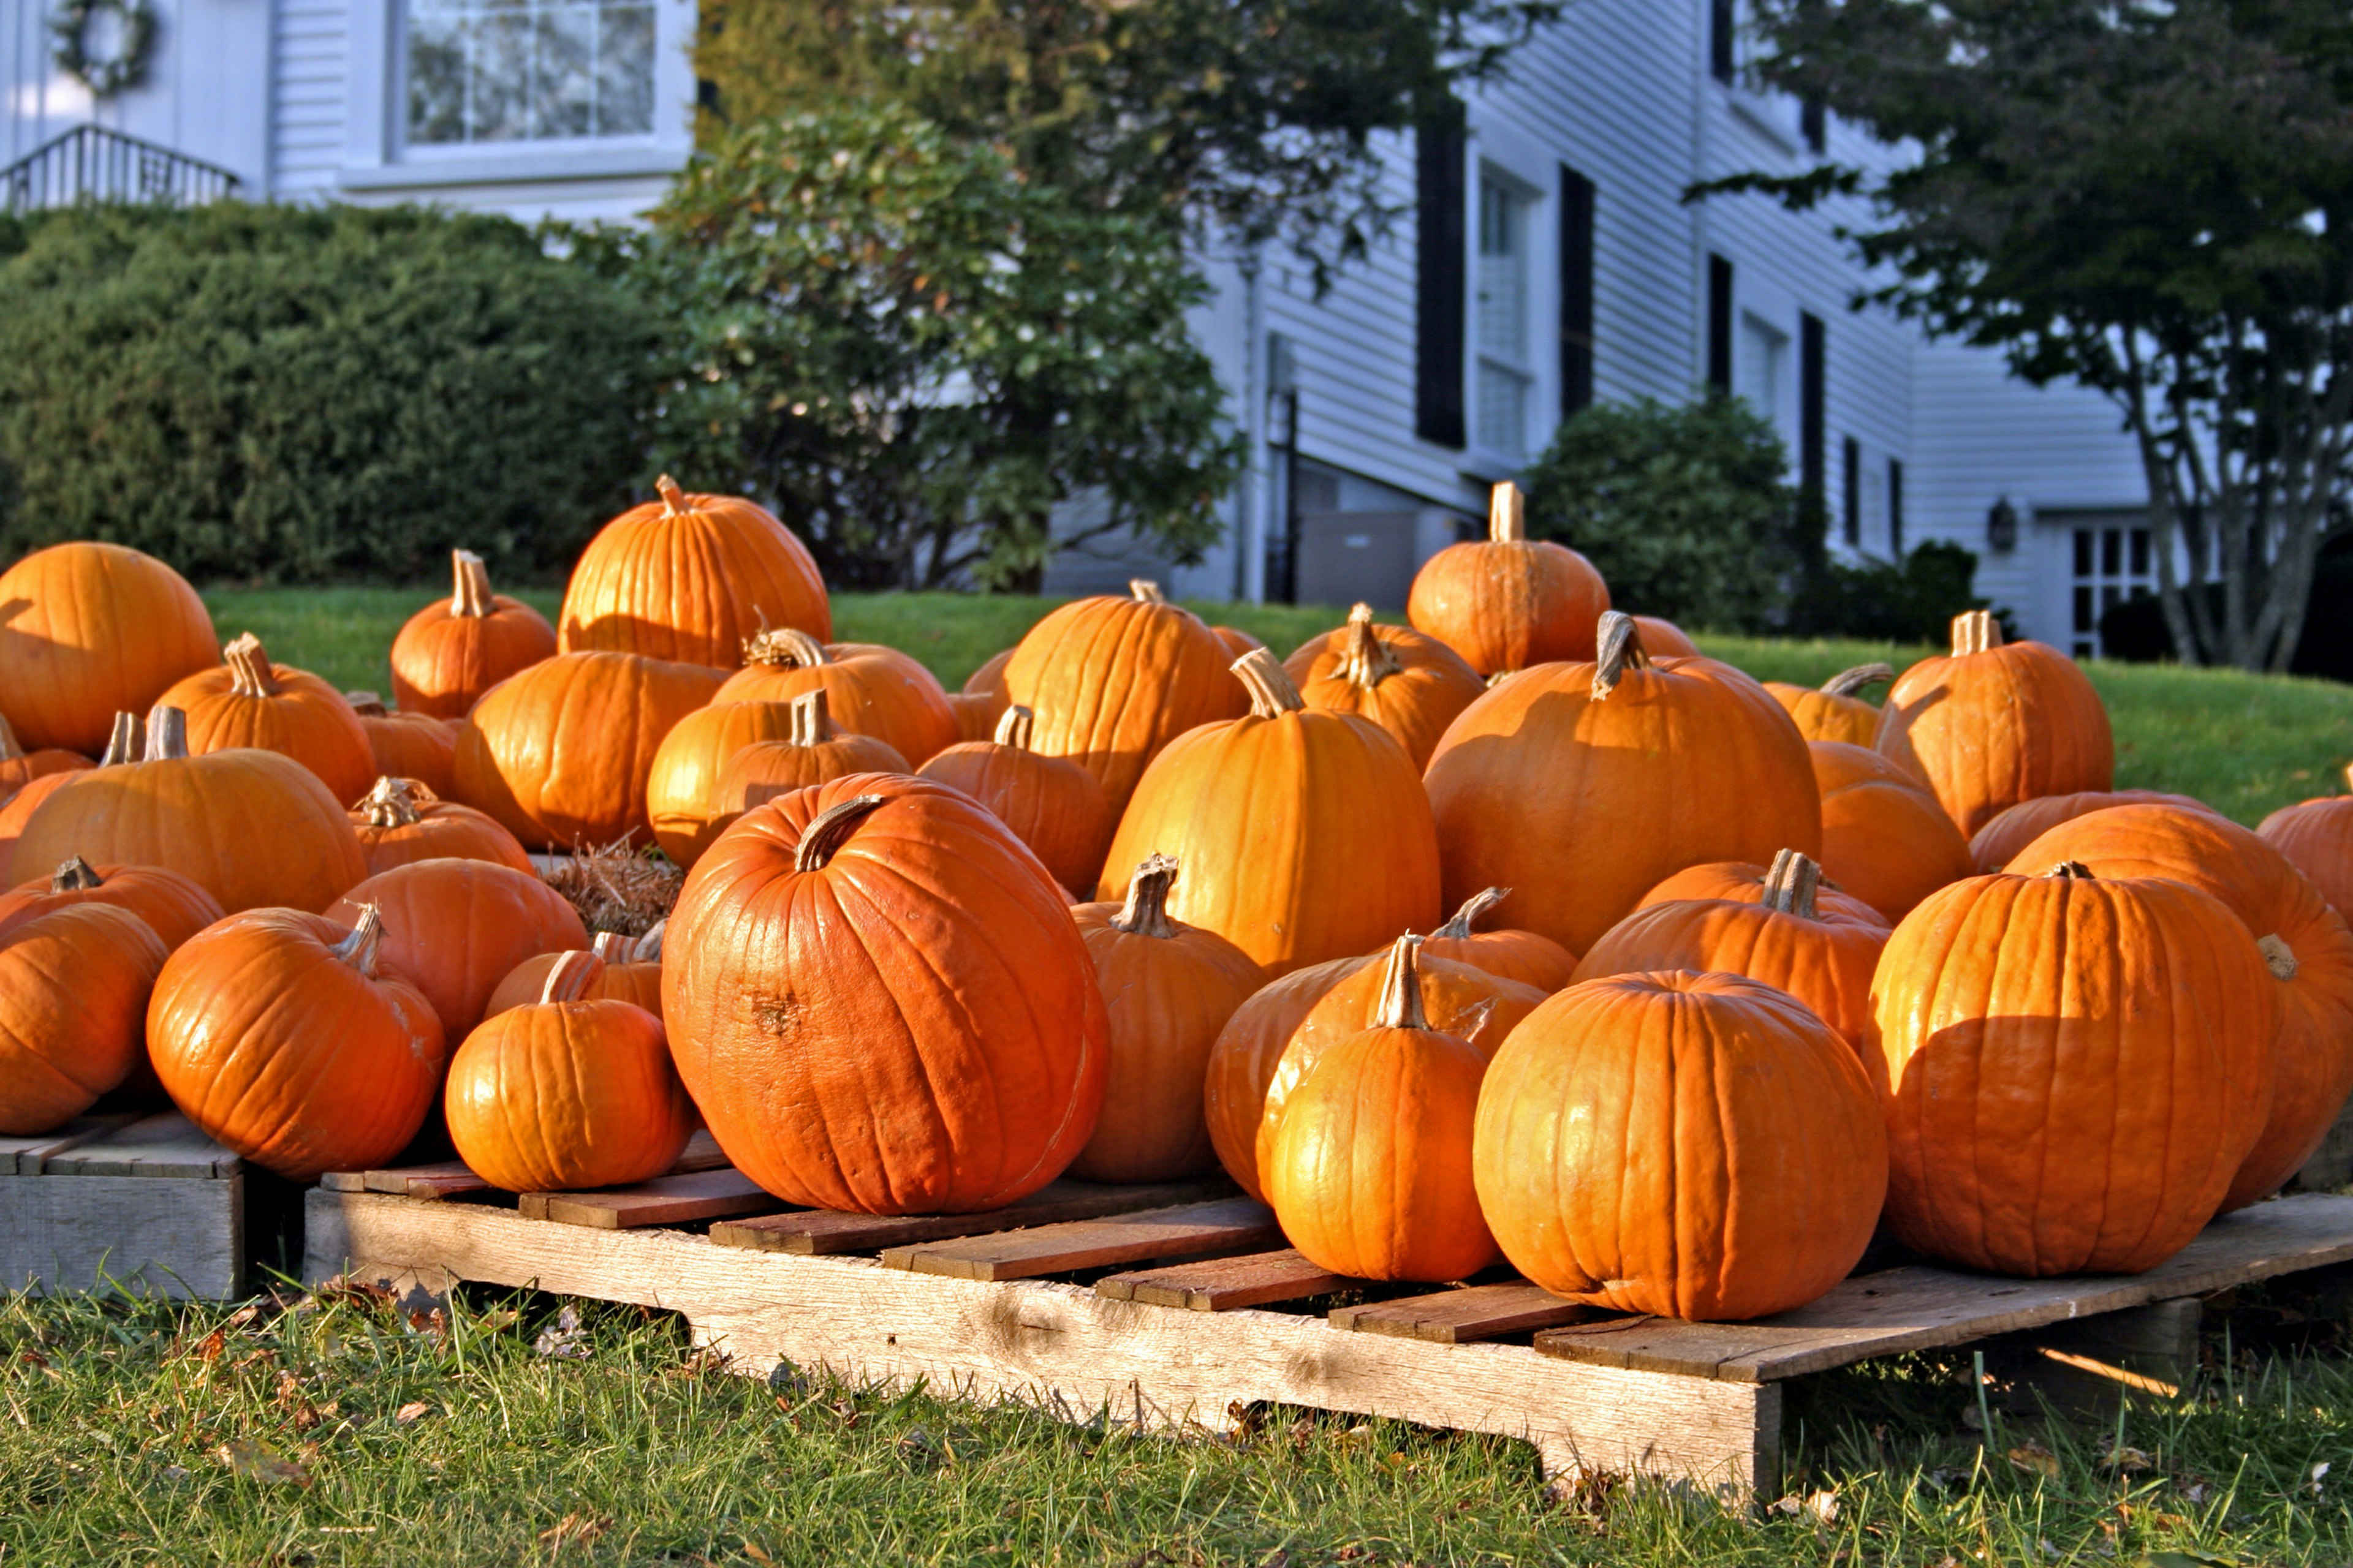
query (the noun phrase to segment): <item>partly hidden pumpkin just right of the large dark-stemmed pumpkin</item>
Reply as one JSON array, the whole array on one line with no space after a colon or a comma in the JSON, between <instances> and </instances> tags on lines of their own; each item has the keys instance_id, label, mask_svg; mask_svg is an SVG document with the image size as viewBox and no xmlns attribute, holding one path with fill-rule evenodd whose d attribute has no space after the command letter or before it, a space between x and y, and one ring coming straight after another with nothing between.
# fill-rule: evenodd
<instances>
[{"instance_id":1,"label":"partly hidden pumpkin just right of the large dark-stemmed pumpkin","mask_svg":"<svg viewBox=\"0 0 2353 1568\"><path fill-rule=\"evenodd\" d=\"M1887 924L1977 865L1927 785L1866 745L1812 741L1821 870Z\"/></svg>"}]
</instances>

